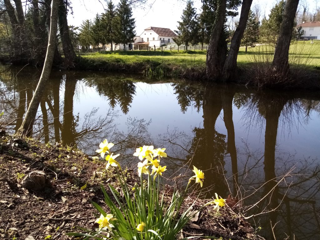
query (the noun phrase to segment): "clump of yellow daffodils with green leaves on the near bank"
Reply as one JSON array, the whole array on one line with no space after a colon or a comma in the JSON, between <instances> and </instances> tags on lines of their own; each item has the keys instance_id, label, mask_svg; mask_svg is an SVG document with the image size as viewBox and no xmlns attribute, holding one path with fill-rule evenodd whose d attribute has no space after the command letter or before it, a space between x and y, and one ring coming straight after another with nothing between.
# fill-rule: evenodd
<instances>
[{"instance_id":1,"label":"clump of yellow daffodils with green leaves on the near bank","mask_svg":"<svg viewBox=\"0 0 320 240\"><path fill-rule=\"evenodd\" d=\"M124 174L120 164L116 160L119 154L113 155L110 148L114 146L113 143L108 143L104 140L100 143L100 149L96 150L102 158L105 157L107 164L106 169L110 166L114 167L121 185L123 196L112 186L108 185L116 204L111 200L107 191L101 185L105 202L108 205L110 213L106 213L98 204L92 202L96 209L101 213L100 218L95 222L99 224L97 232L90 231L90 235L78 234L77 236L90 236L96 239L175 239L175 236L180 233L181 229L188 223L188 221L202 208L208 204L214 204L214 208L219 210L219 207L225 205L225 199L219 198L217 194L216 199L208 202L197 211L193 211L192 207L188 208L178 217L176 214L180 211L183 201L186 197L189 184L195 180L203 187L204 172L193 166L192 172L195 174L189 178L188 185L183 194L177 189L172 193L172 202L164 203L164 191L160 193L160 184L162 174L167 170L167 166L161 165L161 159L167 157L165 153L166 148L154 148L154 146L143 146L137 148L133 156L139 158L140 162L137 164L138 175L140 177L140 186L130 187L125 181ZM105 154L108 154L105 156ZM148 176L148 184L143 183L142 175ZM152 177L153 175L153 177ZM158 177L158 180L156 178ZM131 190L129 190L131 189ZM132 196L133 192L133 196ZM161 196L162 195L162 196ZM114 217L115 216L115 217ZM108 232L105 235L103 232ZM73 233L71 236L76 236Z\"/></svg>"}]
</instances>

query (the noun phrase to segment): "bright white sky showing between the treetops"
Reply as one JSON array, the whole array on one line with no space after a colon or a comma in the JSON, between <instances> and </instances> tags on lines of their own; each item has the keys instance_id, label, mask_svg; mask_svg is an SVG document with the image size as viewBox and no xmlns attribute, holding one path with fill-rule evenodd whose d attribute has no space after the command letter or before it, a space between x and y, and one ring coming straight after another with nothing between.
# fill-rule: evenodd
<instances>
[{"instance_id":1,"label":"bright white sky showing between the treetops","mask_svg":"<svg viewBox=\"0 0 320 240\"><path fill-rule=\"evenodd\" d=\"M316 7L317 0L305 0L309 5L309 11L313 12ZM113 3L118 4L119 0L114 0ZM153 3L154 2L154 3ZM270 9L276 3L276 0L253 0L252 6L260 4L262 17L264 11L266 16L270 13ZM300 0L300 2L303 2ZM97 13L104 12L103 6L106 6L105 0L72 0L73 15L68 15L68 24L80 26L83 20L93 20ZM133 17L136 20L136 34L140 35L145 28L150 26L160 28L170 28L177 30L177 21L180 21L183 9L186 7L184 0L148 0L148 4L152 7L145 6L132 9ZM320 5L320 1L318 6ZM201 0L194 0L194 6L200 12ZM239 9L240 12L240 9Z\"/></svg>"}]
</instances>

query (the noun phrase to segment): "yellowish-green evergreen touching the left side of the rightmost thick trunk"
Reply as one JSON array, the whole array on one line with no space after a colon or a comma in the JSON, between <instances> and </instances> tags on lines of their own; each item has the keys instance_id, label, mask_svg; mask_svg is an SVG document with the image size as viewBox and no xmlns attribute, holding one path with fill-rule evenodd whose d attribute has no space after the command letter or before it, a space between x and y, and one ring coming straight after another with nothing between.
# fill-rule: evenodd
<instances>
[{"instance_id":1,"label":"yellowish-green evergreen touching the left side of the rightmost thick trunk","mask_svg":"<svg viewBox=\"0 0 320 240\"><path fill-rule=\"evenodd\" d=\"M279 36L280 25L284 15L285 1L277 3L269 14L269 19L264 18L261 24L260 36L265 43L276 47L276 42Z\"/></svg>"}]
</instances>

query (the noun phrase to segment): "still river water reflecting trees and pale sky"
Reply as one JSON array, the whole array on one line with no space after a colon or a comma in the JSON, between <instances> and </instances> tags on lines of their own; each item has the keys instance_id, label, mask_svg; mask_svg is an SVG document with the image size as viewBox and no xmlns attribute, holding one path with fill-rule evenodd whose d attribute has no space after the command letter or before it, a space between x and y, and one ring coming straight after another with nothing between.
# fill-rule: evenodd
<instances>
[{"instance_id":1,"label":"still river water reflecting trees and pale sky","mask_svg":"<svg viewBox=\"0 0 320 240\"><path fill-rule=\"evenodd\" d=\"M20 127L40 74L0 66L7 131ZM320 239L319 124L319 93L53 71L33 136L89 156L107 138L123 165L136 147L167 148L166 177L188 176L192 165L205 170L207 196L242 199L267 239L271 225L276 239Z\"/></svg>"}]
</instances>

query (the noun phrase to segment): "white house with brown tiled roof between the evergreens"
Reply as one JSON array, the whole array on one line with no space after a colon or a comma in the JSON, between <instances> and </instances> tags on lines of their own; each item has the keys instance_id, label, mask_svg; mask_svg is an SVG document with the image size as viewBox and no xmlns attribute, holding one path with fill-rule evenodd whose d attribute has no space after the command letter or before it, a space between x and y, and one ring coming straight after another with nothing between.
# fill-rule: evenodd
<instances>
[{"instance_id":1,"label":"white house with brown tiled roof between the evergreens","mask_svg":"<svg viewBox=\"0 0 320 240\"><path fill-rule=\"evenodd\" d=\"M159 48L160 46L172 43L172 38L177 35L169 28L149 27L139 35L135 36L133 50L147 50Z\"/></svg>"}]
</instances>

